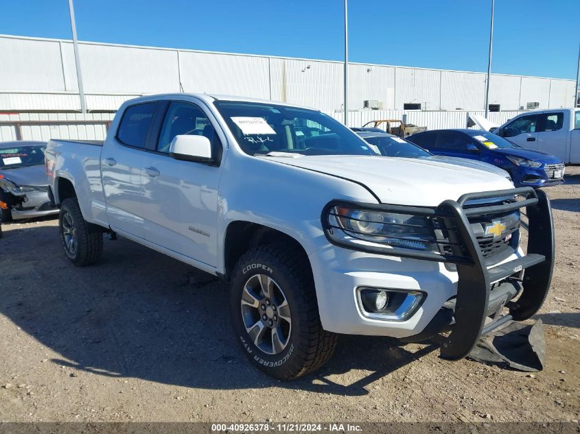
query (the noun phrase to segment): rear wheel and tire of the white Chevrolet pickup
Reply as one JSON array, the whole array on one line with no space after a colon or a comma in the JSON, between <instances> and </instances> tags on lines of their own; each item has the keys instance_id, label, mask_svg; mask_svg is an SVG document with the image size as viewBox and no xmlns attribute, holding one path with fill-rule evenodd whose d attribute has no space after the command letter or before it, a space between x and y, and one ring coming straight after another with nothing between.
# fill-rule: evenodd
<instances>
[{"instance_id":1,"label":"rear wheel and tire of the white Chevrolet pickup","mask_svg":"<svg viewBox=\"0 0 580 434\"><path fill-rule=\"evenodd\" d=\"M58 214L60 241L69 260L78 267L97 263L103 252L103 232L82 218L76 199L65 199Z\"/></svg>"}]
</instances>

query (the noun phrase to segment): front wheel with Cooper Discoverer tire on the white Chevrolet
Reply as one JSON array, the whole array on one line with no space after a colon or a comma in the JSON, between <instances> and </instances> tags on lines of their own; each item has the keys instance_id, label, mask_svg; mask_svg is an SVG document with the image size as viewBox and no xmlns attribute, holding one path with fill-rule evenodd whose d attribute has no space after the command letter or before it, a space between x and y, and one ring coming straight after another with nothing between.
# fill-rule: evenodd
<instances>
[{"instance_id":1,"label":"front wheel with Cooper Discoverer tire on the white Chevrolet","mask_svg":"<svg viewBox=\"0 0 580 434\"><path fill-rule=\"evenodd\" d=\"M266 374L292 380L324 365L338 335L322 328L308 258L280 245L249 250L230 290L233 328L246 356Z\"/></svg>"}]
</instances>

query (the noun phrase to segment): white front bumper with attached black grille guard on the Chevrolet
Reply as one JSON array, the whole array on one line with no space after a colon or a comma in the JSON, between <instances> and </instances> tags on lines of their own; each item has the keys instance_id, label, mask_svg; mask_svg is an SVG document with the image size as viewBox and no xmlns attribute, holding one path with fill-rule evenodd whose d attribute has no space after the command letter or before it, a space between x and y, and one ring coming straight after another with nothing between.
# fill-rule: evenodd
<instances>
[{"instance_id":1,"label":"white front bumper with attached black grille guard on the Chevrolet","mask_svg":"<svg viewBox=\"0 0 580 434\"><path fill-rule=\"evenodd\" d=\"M465 205L471 200L511 195L524 195L525 199L494 206ZM486 265L468 217L520 207L526 207L529 219L528 254L518 249L500 263ZM424 213L442 219L450 234L454 233L452 241L458 246L451 254L375 245L356 245L357 250L353 250L353 243L336 236L337 229L328 219L323 219L325 234L332 245L314 252L310 259L325 329L413 341L450 327L450 335L442 342L441 355L461 359L469 354L481 335L509 320L525 320L542 306L554 266L553 220L543 191L528 187L475 193L464 195L457 202L447 200L435 209L389 205L375 205L375 208L385 212ZM317 269L325 272L317 273ZM356 295L358 287L421 291L425 298L417 311L404 321L379 320L361 312ZM518 293L517 301L511 301ZM504 304L509 313L501 315Z\"/></svg>"}]
</instances>

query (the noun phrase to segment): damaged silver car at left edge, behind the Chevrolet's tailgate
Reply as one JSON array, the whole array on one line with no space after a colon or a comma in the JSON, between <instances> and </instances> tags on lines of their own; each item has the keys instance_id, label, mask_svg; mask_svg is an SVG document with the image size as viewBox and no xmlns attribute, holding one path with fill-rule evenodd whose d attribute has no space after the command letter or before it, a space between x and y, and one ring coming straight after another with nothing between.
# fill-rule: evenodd
<instances>
[{"instance_id":1,"label":"damaged silver car at left edge, behind the Chevrolet's tailgate","mask_svg":"<svg viewBox=\"0 0 580 434\"><path fill-rule=\"evenodd\" d=\"M46 142L0 143L1 221L58 214L49 199Z\"/></svg>"}]
</instances>

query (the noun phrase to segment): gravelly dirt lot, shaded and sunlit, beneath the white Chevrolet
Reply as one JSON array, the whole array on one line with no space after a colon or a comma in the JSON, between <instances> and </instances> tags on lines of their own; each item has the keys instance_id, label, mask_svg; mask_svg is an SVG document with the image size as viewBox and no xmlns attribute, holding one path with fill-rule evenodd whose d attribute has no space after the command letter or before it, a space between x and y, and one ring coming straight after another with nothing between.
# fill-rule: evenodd
<instances>
[{"instance_id":1,"label":"gravelly dirt lot, shaded and sunlit, beneath the white Chevrolet","mask_svg":"<svg viewBox=\"0 0 580 434\"><path fill-rule=\"evenodd\" d=\"M65 258L55 219L3 226L0 421L570 421L580 419L580 167L548 193L557 264L535 375L443 361L432 345L343 337L292 383L233 339L227 287L130 241Z\"/></svg>"}]
</instances>

